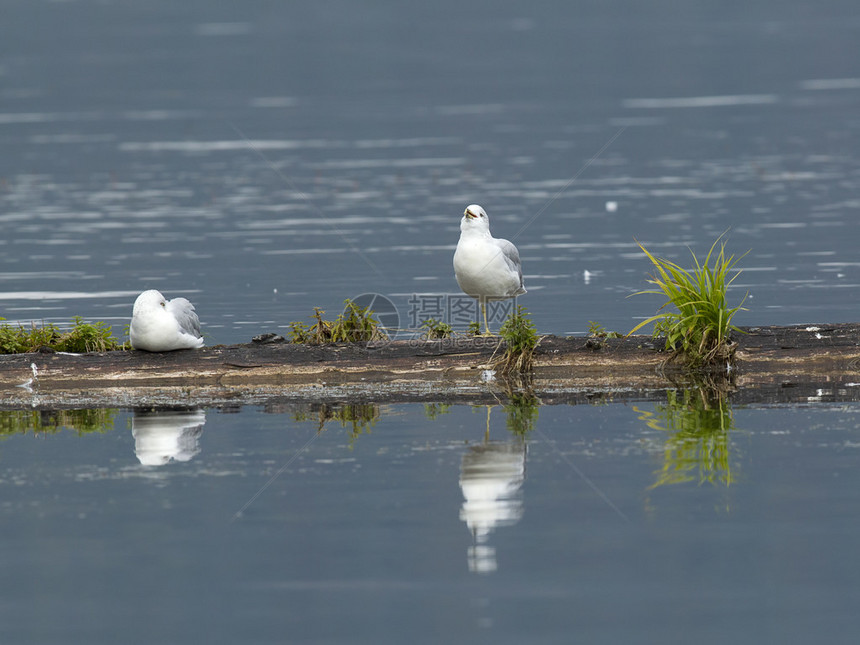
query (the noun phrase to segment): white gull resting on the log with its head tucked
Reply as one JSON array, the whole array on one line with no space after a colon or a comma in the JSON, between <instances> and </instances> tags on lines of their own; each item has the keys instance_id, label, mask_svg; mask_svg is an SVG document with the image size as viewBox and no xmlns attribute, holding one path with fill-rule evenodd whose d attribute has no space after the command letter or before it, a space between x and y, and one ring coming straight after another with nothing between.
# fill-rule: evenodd
<instances>
[{"instance_id":1,"label":"white gull resting on the log with its head tucked","mask_svg":"<svg viewBox=\"0 0 860 645\"><path fill-rule=\"evenodd\" d=\"M134 301L128 336L132 347L148 352L203 347L194 305L185 298L165 300L155 289L144 291Z\"/></svg>"}]
</instances>

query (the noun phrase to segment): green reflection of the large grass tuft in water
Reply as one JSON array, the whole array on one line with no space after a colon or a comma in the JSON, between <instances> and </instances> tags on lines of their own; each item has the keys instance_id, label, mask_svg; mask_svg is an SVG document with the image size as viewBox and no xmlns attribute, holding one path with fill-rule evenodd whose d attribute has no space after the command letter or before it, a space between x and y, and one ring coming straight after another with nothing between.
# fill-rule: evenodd
<instances>
[{"instance_id":1,"label":"green reflection of the large grass tuft in water","mask_svg":"<svg viewBox=\"0 0 860 645\"><path fill-rule=\"evenodd\" d=\"M666 433L663 463L651 489L686 482L734 483L729 441L734 419L725 393L708 388L672 390L666 393L666 404L655 405L654 412L634 410L649 428Z\"/></svg>"}]
</instances>

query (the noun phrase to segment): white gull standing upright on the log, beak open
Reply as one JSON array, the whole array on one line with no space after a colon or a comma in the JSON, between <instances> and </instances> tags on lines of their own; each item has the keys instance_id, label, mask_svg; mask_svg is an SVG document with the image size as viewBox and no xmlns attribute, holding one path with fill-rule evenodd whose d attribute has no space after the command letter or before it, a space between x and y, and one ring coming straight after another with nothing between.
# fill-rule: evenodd
<instances>
[{"instance_id":1,"label":"white gull standing upright on the log, beak open","mask_svg":"<svg viewBox=\"0 0 860 645\"><path fill-rule=\"evenodd\" d=\"M460 221L454 275L460 288L481 303L486 336L491 335L487 301L506 300L526 292L517 247L490 234L490 218L477 204L466 208Z\"/></svg>"}]
</instances>

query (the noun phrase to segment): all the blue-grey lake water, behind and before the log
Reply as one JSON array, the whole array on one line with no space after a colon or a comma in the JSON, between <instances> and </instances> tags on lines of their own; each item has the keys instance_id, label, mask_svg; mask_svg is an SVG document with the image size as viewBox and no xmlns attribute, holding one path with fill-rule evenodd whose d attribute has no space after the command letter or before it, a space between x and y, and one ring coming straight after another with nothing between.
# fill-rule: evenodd
<instances>
[{"instance_id":1,"label":"all the blue-grey lake water, behind and before the log","mask_svg":"<svg viewBox=\"0 0 860 645\"><path fill-rule=\"evenodd\" d=\"M543 333L725 231L737 323L856 321L858 144L853 0L2 0L0 317L414 327L479 203ZM857 406L696 396L4 412L0 640L853 642Z\"/></svg>"}]
</instances>

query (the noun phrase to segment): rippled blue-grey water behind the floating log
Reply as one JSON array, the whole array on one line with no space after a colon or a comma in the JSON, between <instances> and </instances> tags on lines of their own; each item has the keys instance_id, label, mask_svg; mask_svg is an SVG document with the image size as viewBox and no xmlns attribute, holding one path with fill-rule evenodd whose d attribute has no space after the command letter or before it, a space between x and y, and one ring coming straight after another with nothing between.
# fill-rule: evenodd
<instances>
[{"instance_id":1,"label":"rippled blue-grey water behind the floating log","mask_svg":"<svg viewBox=\"0 0 860 645\"><path fill-rule=\"evenodd\" d=\"M410 327L478 202L541 331L627 331L634 240L726 230L738 322L856 320L860 25L789 4L7 3L0 313L120 331L159 288L233 343L380 293Z\"/></svg>"}]
</instances>

